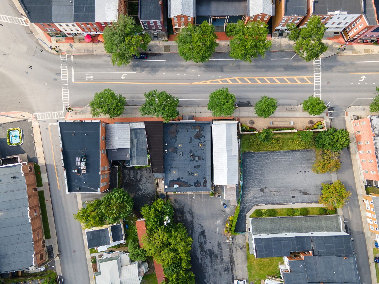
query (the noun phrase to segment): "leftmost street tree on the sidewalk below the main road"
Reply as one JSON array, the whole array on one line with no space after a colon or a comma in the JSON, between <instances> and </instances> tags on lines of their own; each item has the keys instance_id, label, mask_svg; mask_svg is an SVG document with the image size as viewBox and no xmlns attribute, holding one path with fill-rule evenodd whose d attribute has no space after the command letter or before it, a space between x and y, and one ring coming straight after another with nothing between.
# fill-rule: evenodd
<instances>
[{"instance_id":1,"label":"leftmost street tree on the sidewalk below the main road","mask_svg":"<svg viewBox=\"0 0 379 284\"><path fill-rule=\"evenodd\" d=\"M124 111L126 100L122 95L116 95L111 89L96 93L89 103L92 117L108 115L110 119L119 117Z\"/></svg>"}]
</instances>

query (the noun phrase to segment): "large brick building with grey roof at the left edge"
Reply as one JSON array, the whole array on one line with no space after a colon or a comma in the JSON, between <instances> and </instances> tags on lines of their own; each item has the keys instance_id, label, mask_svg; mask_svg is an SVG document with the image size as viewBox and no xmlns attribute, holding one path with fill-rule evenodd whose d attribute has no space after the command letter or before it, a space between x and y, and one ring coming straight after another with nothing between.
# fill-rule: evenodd
<instances>
[{"instance_id":1,"label":"large brick building with grey roof at the left edge","mask_svg":"<svg viewBox=\"0 0 379 284\"><path fill-rule=\"evenodd\" d=\"M0 273L35 269L47 250L34 165L2 165L0 179Z\"/></svg>"}]
</instances>

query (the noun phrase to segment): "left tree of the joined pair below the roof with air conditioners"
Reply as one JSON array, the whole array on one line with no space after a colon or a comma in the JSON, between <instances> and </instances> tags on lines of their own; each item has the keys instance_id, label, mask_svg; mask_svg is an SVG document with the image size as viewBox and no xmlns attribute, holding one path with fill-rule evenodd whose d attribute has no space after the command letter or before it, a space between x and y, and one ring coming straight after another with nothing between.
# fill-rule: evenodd
<instances>
[{"instance_id":1,"label":"left tree of the joined pair below the roof with air conditioners","mask_svg":"<svg viewBox=\"0 0 379 284\"><path fill-rule=\"evenodd\" d=\"M93 203L88 203L86 207L81 208L74 219L79 221L84 229L92 227L101 227L105 225L104 214L100 209L101 200L95 199Z\"/></svg>"}]
</instances>

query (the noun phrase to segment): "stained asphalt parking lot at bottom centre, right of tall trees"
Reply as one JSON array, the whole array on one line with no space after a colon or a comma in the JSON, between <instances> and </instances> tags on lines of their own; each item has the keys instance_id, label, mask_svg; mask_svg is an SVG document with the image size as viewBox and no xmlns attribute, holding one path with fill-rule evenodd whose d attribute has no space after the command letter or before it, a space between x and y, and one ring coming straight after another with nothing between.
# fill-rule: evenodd
<instances>
[{"instance_id":1,"label":"stained asphalt parking lot at bottom centre, right of tall trees","mask_svg":"<svg viewBox=\"0 0 379 284\"><path fill-rule=\"evenodd\" d=\"M208 194L168 196L175 222L183 223L193 238L191 270L196 283L230 284L233 278L247 278L245 237L233 237L233 242L227 243L223 234L226 218L234 214L235 206L224 208L225 200Z\"/></svg>"}]
</instances>

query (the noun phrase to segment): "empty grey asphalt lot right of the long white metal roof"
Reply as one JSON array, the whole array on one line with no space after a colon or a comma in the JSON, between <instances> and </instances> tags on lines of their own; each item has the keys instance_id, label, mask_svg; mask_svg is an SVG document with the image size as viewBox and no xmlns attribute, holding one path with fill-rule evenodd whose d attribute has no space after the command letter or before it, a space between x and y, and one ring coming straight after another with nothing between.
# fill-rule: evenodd
<instances>
[{"instance_id":1,"label":"empty grey asphalt lot right of the long white metal roof","mask_svg":"<svg viewBox=\"0 0 379 284\"><path fill-rule=\"evenodd\" d=\"M315 150L245 152L243 189L236 231L246 231L247 212L258 204L317 203L330 173L312 172Z\"/></svg>"}]
</instances>

